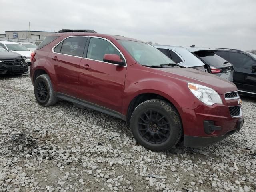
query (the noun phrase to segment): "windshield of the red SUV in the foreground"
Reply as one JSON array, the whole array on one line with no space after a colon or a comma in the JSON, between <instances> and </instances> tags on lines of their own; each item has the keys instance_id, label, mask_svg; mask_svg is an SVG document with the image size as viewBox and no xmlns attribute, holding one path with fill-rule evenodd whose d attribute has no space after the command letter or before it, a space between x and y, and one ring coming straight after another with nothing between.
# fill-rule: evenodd
<instances>
[{"instance_id":1,"label":"windshield of the red SUV in the foreground","mask_svg":"<svg viewBox=\"0 0 256 192\"><path fill-rule=\"evenodd\" d=\"M175 63L153 46L136 41L118 40L130 55L141 65L160 66L160 64Z\"/></svg>"}]
</instances>

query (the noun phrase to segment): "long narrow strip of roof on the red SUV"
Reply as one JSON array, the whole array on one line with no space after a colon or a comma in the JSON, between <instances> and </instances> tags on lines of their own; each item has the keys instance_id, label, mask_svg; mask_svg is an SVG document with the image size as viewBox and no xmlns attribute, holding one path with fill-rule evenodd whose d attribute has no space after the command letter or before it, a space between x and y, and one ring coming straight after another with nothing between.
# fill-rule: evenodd
<instances>
[{"instance_id":1,"label":"long narrow strip of roof on the red SUV","mask_svg":"<svg viewBox=\"0 0 256 192\"><path fill-rule=\"evenodd\" d=\"M87 32L67 32L67 33L54 33L51 36L96 36L96 37L102 37L102 38L114 38L116 40L128 40L128 41L136 41L136 42L142 42L145 43L143 41L137 40L137 39L132 39L132 38L128 38L128 37L124 37L124 36L120 36L120 35L108 35L108 34L100 34L100 33L87 33Z\"/></svg>"}]
</instances>

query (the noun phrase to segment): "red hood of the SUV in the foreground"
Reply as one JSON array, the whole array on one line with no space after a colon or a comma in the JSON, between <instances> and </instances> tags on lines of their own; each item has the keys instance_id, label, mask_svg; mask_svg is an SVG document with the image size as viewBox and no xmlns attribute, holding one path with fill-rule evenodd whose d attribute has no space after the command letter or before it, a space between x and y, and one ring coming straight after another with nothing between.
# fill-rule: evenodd
<instances>
[{"instance_id":1,"label":"red hood of the SUV in the foreground","mask_svg":"<svg viewBox=\"0 0 256 192\"><path fill-rule=\"evenodd\" d=\"M191 68L150 68L150 71L186 82L204 85L216 90L216 92L222 95L226 92L237 91L234 83Z\"/></svg>"}]
</instances>

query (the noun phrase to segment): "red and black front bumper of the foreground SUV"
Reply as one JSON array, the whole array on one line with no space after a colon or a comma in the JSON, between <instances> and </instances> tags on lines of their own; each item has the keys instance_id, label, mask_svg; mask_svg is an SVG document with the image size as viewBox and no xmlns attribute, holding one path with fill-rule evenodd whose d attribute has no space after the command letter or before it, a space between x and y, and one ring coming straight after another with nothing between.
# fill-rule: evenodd
<instances>
[{"instance_id":1,"label":"red and black front bumper of the foreground SUV","mask_svg":"<svg viewBox=\"0 0 256 192\"><path fill-rule=\"evenodd\" d=\"M184 146L204 147L223 140L239 131L244 117L231 116L229 108L238 104L236 100L225 100L224 104L202 105L195 110L180 108L184 132Z\"/></svg>"}]
</instances>

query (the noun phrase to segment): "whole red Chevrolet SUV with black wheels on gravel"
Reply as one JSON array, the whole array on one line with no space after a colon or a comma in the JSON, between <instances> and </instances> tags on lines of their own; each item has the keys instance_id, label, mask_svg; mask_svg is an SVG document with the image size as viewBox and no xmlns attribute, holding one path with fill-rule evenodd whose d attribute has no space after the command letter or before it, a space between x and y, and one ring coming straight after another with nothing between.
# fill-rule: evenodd
<instances>
[{"instance_id":1,"label":"whole red Chevrolet SUV with black wheels on gravel","mask_svg":"<svg viewBox=\"0 0 256 192\"><path fill-rule=\"evenodd\" d=\"M48 36L32 53L36 100L57 98L125 120L145 148L163 151L214 144L239 131L236 86L183 68L153 46L90 30Z\"/></svg>"}]
</instances>

